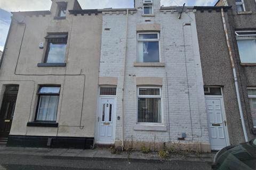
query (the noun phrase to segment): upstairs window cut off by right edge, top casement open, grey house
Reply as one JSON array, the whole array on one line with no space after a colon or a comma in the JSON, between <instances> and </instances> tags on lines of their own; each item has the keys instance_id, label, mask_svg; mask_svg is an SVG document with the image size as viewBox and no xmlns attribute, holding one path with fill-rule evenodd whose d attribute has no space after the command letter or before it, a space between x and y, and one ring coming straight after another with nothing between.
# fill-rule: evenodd
<instances>
[{"instance_id":1,"label":"upstairs window cut off by right edge, top casement open, grey house","mask_svg":"<svg viewBox=\"0 0 256 170\"><path fill-rule=\"evenodd\" d=\"M241 63L256 63L256 31L236 31Z\"/></svg>"}]
</instances>

